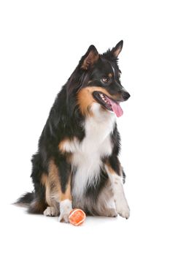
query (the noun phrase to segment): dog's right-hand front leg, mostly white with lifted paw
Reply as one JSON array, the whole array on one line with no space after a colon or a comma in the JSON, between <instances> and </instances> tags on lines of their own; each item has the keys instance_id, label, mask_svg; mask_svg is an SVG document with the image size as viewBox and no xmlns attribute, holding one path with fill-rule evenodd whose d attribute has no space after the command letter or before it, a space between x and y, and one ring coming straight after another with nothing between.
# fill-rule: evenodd
<instances>
[{"instance_id":1,"label":"dog's right-hand front leg, mostly white with lifted paw","mask_svg":"<svg viewBox=\"0 0 170 256\"><path fill-rule=\"evenodd\" d=\"M128 207L128 202L125 198L122 177L117 175L115 170L110 165L106 165L106 170L109 179L112 182L112 189L114 193L117 214L119 214L121 217L128 219L128 217L130 216L130 209Z\"/></svg>"}]
</instances>

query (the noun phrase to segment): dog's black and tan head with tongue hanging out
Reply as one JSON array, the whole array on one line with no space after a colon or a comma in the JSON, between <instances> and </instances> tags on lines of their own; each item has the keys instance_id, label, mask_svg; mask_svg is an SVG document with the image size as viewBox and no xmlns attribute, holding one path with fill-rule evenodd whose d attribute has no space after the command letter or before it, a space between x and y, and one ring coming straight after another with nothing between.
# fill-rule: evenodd
<instances>
[{"instance_id":1,"label":"dog's black and tan head with tongue hanging out","mask_svg":"<svg viewBox=\"0 0 170 256\"><path fill-rule=\"evenodd\" d=\"M122 48L123 41L120 41L107 53L98 54L95 46L90 45L85 56L82 56L71 80L83 115L90 113L91 106L96 102L102 110L122 116L120 102L130 97L120 83L117 57Z\"/></svg>"}]
</instances>

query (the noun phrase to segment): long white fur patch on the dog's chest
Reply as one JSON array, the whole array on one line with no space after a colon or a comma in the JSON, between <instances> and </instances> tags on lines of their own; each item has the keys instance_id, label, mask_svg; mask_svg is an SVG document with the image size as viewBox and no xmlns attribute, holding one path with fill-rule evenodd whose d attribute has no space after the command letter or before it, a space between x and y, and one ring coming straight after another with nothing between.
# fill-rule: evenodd
<instances>
[{"instance_id":1,"label":"long white fur patch on the dog's chest","mask_svg":"<svg viewBox=\"0 0 170 256\"><path fill-rule=\"evenodd\" d=\"M101 157L112 153L110 134L115 125L115 114L101 110L101 106L94 103L93 116L85 120L85 138L79 143L76 139L67 143L65 148L72 152L72 167L74 185L72 194L78 197L83 195L89 184L96 184L102 165Z\"/></svg>"}]
</instances>

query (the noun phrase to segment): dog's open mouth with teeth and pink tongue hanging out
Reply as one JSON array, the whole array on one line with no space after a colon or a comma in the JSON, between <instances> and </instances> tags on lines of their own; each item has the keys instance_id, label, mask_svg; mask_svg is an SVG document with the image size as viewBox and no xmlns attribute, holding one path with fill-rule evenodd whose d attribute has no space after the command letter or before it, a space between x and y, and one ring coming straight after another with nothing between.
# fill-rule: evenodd
<instances>
[{"instance_id":1,"label":"dog's open mouth with teeth and pink tongue hanging out","mask_svg":"<svg viewBox=\"0 0 170 256\"><path fill-rule=\"evenodd\" d=\"M101 91L93 91L93 97L96 101L102 105L107 110L114 112L117 117L123 115L123 110L120 107L119 102L116 102L114 99L110 99L106 94Z\"/></svg>"}]
</instances>

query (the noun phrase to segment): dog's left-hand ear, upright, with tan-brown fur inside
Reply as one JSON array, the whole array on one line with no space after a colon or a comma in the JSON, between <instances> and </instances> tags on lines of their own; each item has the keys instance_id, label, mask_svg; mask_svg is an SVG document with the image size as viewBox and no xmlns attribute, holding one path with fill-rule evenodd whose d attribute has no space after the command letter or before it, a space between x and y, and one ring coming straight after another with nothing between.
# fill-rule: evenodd
<instances>
[{"instance_id":1,"label":"dog's left-hand ear, upright, with tan-brown fur inside","mask_svg":"<svg viewBox=\"0 0 170 256\"><path fill-rule=\"evenodd\" d=\"M82 57L81 68L85 70L89 69L96 61L98 61L98 57L99 54L96 47L94 45L90 45L87 53Z\"/></svg>"}]
</instances>

